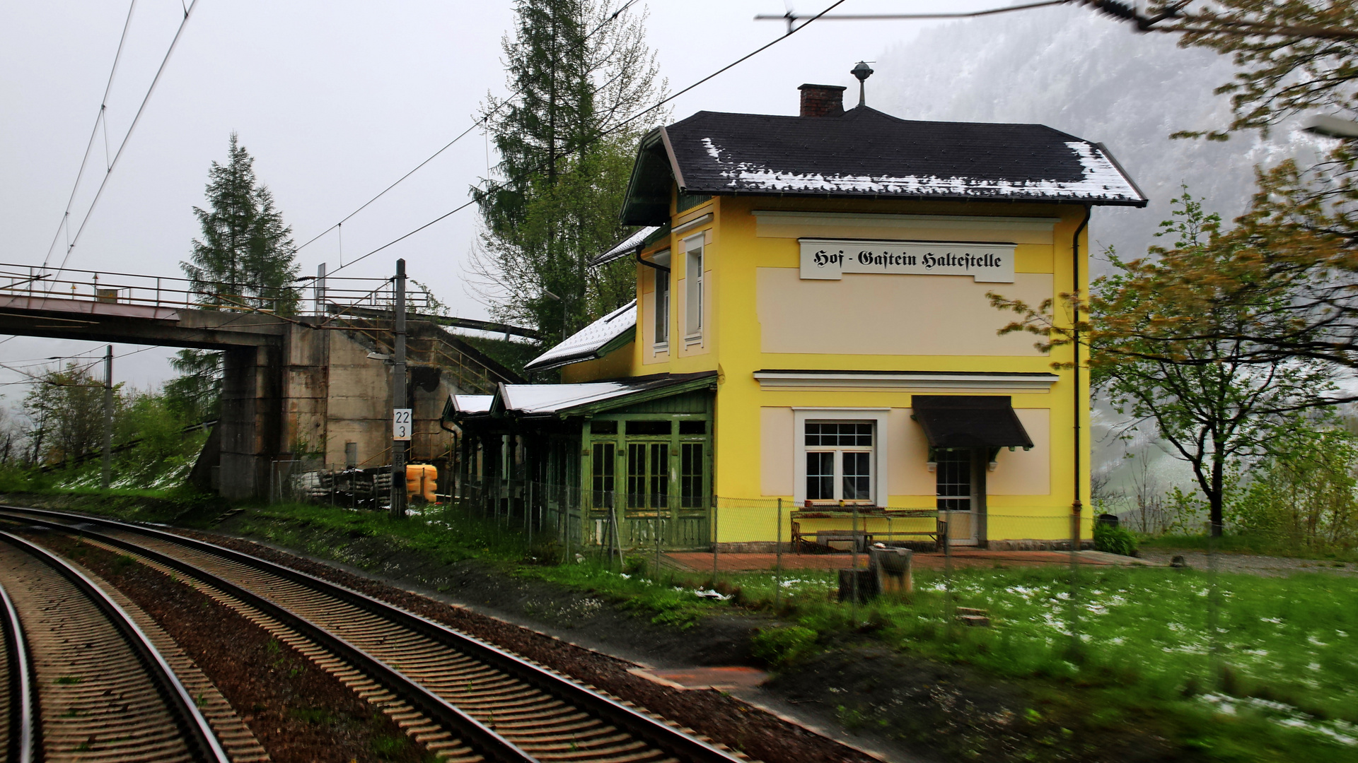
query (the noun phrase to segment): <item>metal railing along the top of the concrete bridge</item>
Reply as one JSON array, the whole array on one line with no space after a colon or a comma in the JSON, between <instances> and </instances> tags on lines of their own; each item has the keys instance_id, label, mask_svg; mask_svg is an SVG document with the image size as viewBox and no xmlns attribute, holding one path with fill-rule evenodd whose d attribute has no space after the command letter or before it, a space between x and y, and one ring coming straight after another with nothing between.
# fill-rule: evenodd
<instances>
[{"instance_id":1,"label":"metal railing along the top of the concrete bridge","mask_svg":"<svg viewBox=\"0 0 1358 763\"><path fill-rule=\"evenodd\" d=\"M0 262L0 300L75 300L163 308L227 310L287 315L325 315L327 305L390 310L395 285L390 278L307 276L285 286L243 282L201 282L174 276L143 276L111 270L76 270ZM406 291L407 310L430 305L424 291Z\"/></svg>"}]
</instances>

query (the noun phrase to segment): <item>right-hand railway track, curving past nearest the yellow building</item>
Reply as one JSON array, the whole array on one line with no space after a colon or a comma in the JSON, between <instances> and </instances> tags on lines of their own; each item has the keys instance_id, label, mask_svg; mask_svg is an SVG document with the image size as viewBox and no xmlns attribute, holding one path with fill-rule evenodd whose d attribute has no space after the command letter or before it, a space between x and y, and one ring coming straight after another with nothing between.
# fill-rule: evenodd
<instances>
[{"instance_id":1,"label":"right-hand railway track, curving past nearest the yellow building","mask_svg":"<svg viewBox=\"0 0 1358 763\"><path fill-rule=\"evenodd\" d=\"M291 638L407 733L454 760L741 760L559 673L330 581L191 538L114 520L0 506L185 576ZM98 529L95 529L98 528Z\"/></svg>"}]
</instances>

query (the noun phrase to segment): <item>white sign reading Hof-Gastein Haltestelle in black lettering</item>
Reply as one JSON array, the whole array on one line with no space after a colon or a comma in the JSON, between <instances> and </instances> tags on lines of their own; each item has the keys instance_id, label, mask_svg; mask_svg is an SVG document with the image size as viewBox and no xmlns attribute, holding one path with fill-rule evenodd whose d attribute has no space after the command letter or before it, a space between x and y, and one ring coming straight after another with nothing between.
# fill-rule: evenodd
<instances>
[{"instance_id":1,"label":"white sign reading Hof-Gastein Haltestelle in black lettering","mask_svg":"<svg viewBox=\"0 0 1358 763\"><path fill-rule=\"evenodd\" d=\"M797 239L801 277L838 281L845 273L971 276L976 281L1013 284L1014 244L968 242L865 242Z\"/></svg>"}]
</instances>

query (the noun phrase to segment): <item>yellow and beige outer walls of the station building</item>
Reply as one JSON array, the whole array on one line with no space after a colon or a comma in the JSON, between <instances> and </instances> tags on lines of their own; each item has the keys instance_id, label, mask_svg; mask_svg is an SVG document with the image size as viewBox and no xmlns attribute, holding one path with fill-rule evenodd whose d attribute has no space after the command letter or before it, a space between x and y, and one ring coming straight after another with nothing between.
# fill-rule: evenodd
<instances>
[{"instance_id":1,"label":"yellow and beige outer walls of the station building","mask_svg":"<svg viewBox=\"0 0 1358 763\"><path fill-rule=\"evenodd\" d=\"M914 219L907 228L892 221L846 220L830 224L786 217L763 221L754 210L801 210L808 213L894 213L951 216L938 223ZM1048 372L1058 380L1042 391L1008 394L1029 434L1042 439L1029 453L1002 451L989 475L990 539L1069 538L1074 501L1074 421L1081 422L1081 496L1089 494L1088 376L1081 372L1073 388L1070 369L1054 371L1052 362L1069 362L1070 348L1051 356L1033 349L1028 334L997 337L1013 315L986 303L986 292L1023 297L1035 303L1070 292L1088 280L1088 229L1081 235L1078 276L1071 270L1071 236L1084 208L1052 204L961 204L792 200L770 197L717 197L674 219L712 213L703 227L684 231L672 240L655 243L649 251L671 250L669 352L653 350L655 299L650 269L638 266L637 341L602 361L566 367L570 382L621 375L689 373L718 371L716 413L714 491L720 505L760 505L775 498L792 501L790 410L794 407L887 409L891 448L889 496L879 504L932 508L933 475L925 470L926 444L909 418L913 394L987 394L976 390L769 390L754 377L760 369L876 369L925 372ZM956 216L970 217L959 220ZM1010 224L995 219L1048 219L1043 224ZM990 219L990 220L985 220ZM923 221L919 221L923 220ZM909 220L907 220L909 223ZM838 227L837 227L838 225ZM1008 227L1006 227L1008 225ZM1050 232L1044 231L1047 225ZM686 257L682 239L706 231L705 293L708 319L701 345L684 346L683 305ZM917 240L1014 242L1016 281L975 284L966 276L846 274L842 281L803 281L797 277L797 238L860 238ZM645 255L645 254L644 254ZM1061 320L1069 320L1063 311ZM837 342L835 334L846 338ZM953 334L956 338L949 338ZM918 352L911 353L913 348ZM774 440L774 441L766 441ZM779 455L784 453L784 455ZM904 459L898 459L904 456ZM1036 471L1035 471L1036 470ZM898 491L899 490L899 491ZM1089 536L1085 512L1085 531ZM1014 519L1006 519L1014 517ZM1032 519L1024 519L1032 517ZM1048 519L1038 519L1048 517ZM759 523L763 524L760 520ZM722 521L720 540L767 539L767 528ZM748 527L748 529L741 529ZM756 538L758 536L758 538Z\"/></svg>"}]
</instances>

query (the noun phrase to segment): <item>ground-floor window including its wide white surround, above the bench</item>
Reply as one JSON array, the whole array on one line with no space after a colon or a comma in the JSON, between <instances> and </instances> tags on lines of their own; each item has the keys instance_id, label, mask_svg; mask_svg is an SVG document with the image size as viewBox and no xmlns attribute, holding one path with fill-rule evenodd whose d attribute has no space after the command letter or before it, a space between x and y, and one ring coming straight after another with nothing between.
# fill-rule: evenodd
<instances>
[{"instance_id":1,"label":"ground-floor window including its wide white surround, above the bench","mask_svg":"<svg viewBox=\"0 0 1358 763\"><path fill-rule=\"evenodd\" d=\"M797 504L887 504L887 409L793 409Z\"/></svg>"}]
</instances>

